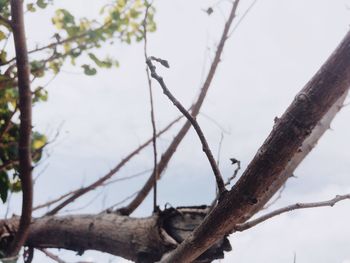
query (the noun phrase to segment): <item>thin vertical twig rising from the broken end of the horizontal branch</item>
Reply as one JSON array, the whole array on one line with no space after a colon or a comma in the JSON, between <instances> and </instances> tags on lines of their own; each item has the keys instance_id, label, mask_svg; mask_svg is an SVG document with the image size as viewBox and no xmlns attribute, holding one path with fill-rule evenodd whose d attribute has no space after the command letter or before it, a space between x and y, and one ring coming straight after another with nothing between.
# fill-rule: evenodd
<instances>
[{"instance_id":1,"label":"thin vertical twig rising from the broken end of the horizontal branch","mask_svg":"<svg viewBox=\"0 0 350 263\"><path fill-rule=\"evenodd\" d=\"M145 1L146 5L146 11L145 11L145 17L143 19L143 39L144 39L144 46L143 46L143 52L145 61L147 61L148 55L147 55L147 17L148 17L148 10L152 6L152 3L148 3L148 1ZM147 75L147 82L148 82L148 91L149 91L149 99L150 99L150 105L151 105L151 123L152 123L152 132L153 132L153 138L152 138L152 144L153 144L153 173L155 174L154 182L153 182L153 212L157 211L157 180L158 180L158 158L157 158L157 128L156 128L156 122L155 122L155 114L154 114L154 103L153 103L153 90L152 90L152 79L148 70L148 67L146 65L146 75Z\"/></svg>"}]
</instances>

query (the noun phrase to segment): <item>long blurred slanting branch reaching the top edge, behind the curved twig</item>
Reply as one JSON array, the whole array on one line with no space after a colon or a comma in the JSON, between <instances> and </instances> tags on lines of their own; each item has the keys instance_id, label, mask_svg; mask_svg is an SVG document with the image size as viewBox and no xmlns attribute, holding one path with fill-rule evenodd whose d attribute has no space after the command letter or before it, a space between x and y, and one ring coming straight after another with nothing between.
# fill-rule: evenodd
<instances>
[{"instance_id":1,"label":"long blurred slanting branch reaching the top edge, behind the curved twig","mask_svg":"<svg viewBox=\"0 0 350 263\"><path fill-rule=\"evenodd\" d=\"M200 91L200 94L198 96L198 99L196 100L195 104L192 107L192 111L191 111L191 115L196 118L200 108L203 105L204 99L207 95L207 92L209 90L210 84L214 78L216 69L220 63L221 60L221 55L222 52L224 50L224 46L226 43L226 40L228 38L228 34L230 31L230 27L231 24L233 22L233 19L236 16L236 10L239 4L239 0L235 1L232 9L231 9L231 13L230 16L227 20L227 22L225 23L225 27L224 30L222 32L221 35L221 39L220 42L217 46L217 50L215 53L215 57L214 60L210 66L207 78L203 84L203 87ZM168 149L165 151L165 153L162 155L161 160L158 163L158 174L161 175L162 172L165 170L165 168L167 167L171 157L173 156L173 154L175 153L177 147L179 146L179 144L181 143L182 139L185 137L185 135L187 134L188 130L191 127L191 123L189 121L187 121L184 126L182 126L182 128L180 129L180 131L178 132L178 134L174 137L173 141L171 142L171 144L169 145ZM142 187L142 189L140 190L139 194L135 197L135 199L133 199L130 204L122 209L119 209L119 212L123 215L129 215L131 214L133 211L135 211L135 209L137 207L139 207L139 205L143 202L143 200L146 198L146 196L148 195L148 193L151 191L152 187L153 187L153 182L154 182L154 178L155 178L155 174L152 173L151 176L148 178L148 180L146 181L145 185Z\"/></svg>"}]
</instances>

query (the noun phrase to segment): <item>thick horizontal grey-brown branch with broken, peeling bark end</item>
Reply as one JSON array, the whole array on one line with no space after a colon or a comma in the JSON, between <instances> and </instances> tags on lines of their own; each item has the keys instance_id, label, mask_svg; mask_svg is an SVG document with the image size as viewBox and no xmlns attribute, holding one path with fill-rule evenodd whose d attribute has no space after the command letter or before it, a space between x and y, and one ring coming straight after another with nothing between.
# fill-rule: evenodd
<instances>
[{"instance_id":1,"label":"thick horizontal grey-brown branch with broken, peeling bark end","mask_svg":"<svg viewBox=\"0 0 350 263\"><path fill-rule=\"evenodd\" d=\"M97 250L137 263L152 263L175 249L204 219L208 207L171 208L147 218L116 213L99 215L45 216L30 226L26 246L63 248L83 254ZM19 218L0 221L0 246L11 242ZM220 239L195 262L209 263L231 250L228 239Z\"/></svg>"}]
</instances>

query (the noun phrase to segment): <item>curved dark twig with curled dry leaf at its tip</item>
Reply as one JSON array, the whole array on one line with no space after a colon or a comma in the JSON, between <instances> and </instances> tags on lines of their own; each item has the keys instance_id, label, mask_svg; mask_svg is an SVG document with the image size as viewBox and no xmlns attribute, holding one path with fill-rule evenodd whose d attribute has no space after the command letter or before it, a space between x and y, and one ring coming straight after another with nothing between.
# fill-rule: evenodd
<instances>
[{"instance_id":1,"label":"curved dark twig with curled dry leaf at its tip","mask_svg":"<svg viewBox=\"0 0 350 263\"><path fill-rule=\"evenodd\" d=\"M211 168L213 170L216 184L218 187L219 195L223 194L226 191L224 181L221 176L221 172L216 164L216 161L214 159L214 156L210 150L210 147L208 145L208 142L203 134L203 131L201 127L199 126L198 122L195 118L191 116L191 114L185 109L184 106L174 97L174 95L170 92L170 90L167 88L163 78L159 76L156 72L156 67L153 65L152 60L154 60L153 57L148 58L146 63L151 71L152 78L156 79L159 83L159 85L162 87L164 94L169 98L169 100L178 108L178 110L187 118L187 120L192 124L193 128L195 129L201 143L203 152L207 156L207 159L211 165ZM159 59L158 59L159 60ZM162 63L162 62L160 62ZM162 63L163 64L163 63Z\"/></svg>"}]
</instances>

